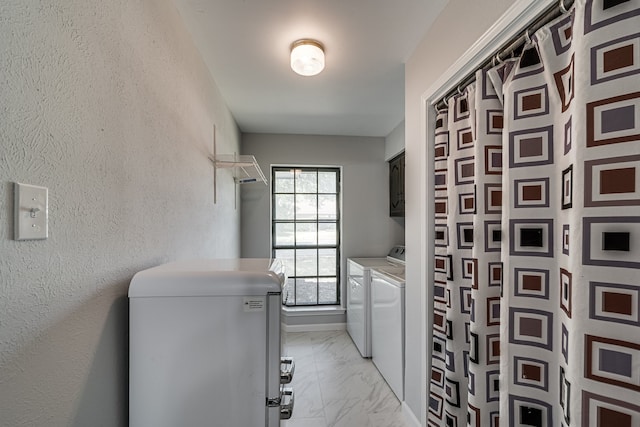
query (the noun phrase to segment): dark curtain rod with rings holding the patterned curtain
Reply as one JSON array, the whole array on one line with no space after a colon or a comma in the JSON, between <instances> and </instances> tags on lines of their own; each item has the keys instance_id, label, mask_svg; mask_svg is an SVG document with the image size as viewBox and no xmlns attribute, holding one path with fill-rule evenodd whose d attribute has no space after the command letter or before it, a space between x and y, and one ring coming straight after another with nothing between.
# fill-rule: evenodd
<instances>
[{"instance_id":1,"label":"dark curtain rod with rings holding the patterned curtain","mask_svg":"<svg viewBox=\"0 0 640 427\"><path fill-rule=\"evenodd\" d=\"M549 9L547 9L545 12L542 12L537 18L535 18L532 21L532 23L527 27L526 30L520 32L520 34L517 37L514 37L513 39L510 40L510 42L503 44L499 49L497 49L495 51L496 53L492 54L485 62L482 63L480 67L478 67L478 69L480 70L480 69L485 69L487 67L490 67L494 65L494 61L497 60L498 62L501 62L503 61L503 58L509 55L512 55L513 52L518 50L518 48L520 48L527 42L531 34L535 33L540 28L544 27L550 21L553 21L557 17L567 13L571 8L571 6L573 5L573 3L574 3L574 0L559 0L558 3L556 3L553 6L550 6ZM440 101L433 104L436 110L446 109L447 101L449 100L449 98L451 98L456 93L462 92L462 89L466 88L471 83L473 83L476 80L475 74L476 73L474 71L468 76L466 76L465 78L463 78L462 80L460 80L460 83L456 87L454 87L449 92L447 92L447 94L443 96L442 99L440 99Z\"/></svg>"}]
</instances>

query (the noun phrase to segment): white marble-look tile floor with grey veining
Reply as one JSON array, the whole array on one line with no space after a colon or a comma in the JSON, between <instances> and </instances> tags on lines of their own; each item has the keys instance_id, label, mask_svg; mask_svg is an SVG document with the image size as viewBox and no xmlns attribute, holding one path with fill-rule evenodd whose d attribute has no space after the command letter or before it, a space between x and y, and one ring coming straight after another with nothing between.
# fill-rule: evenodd
<instances>
[{"instance_id":1,"label":"white marble-look tile floor with grey veining","mask_svg":"<svg viewBox=\"0 0 640 427\"><path fill-rule=\"evenodd\" d=\"M346 331L287 333L294 358L293 416L281 427L410 427L371 359Z\"/></svg>"}]
</instances>

